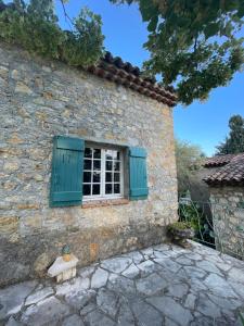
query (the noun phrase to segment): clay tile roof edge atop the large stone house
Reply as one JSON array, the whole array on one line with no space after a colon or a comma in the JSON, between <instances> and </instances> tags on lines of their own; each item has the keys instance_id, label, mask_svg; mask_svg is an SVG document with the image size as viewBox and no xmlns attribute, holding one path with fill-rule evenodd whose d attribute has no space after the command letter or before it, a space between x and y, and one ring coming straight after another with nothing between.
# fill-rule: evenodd
<instances>
[{"instance_id":1,"label":"clay tile roof edge atop the large stone house","mask_svg":"<svg viewBox=\"0 0 244 326\"><path fill-rule=\"evenodd\" d=\"M110 52L106 52L98 65L89 67L88 71L169 106L177 104L177 96L172 87L166 89L158 86L155 79L142 77L139 67L132 66L129 62L124 62L118 57L114 58Z\"/></svg>"}]
</instances>

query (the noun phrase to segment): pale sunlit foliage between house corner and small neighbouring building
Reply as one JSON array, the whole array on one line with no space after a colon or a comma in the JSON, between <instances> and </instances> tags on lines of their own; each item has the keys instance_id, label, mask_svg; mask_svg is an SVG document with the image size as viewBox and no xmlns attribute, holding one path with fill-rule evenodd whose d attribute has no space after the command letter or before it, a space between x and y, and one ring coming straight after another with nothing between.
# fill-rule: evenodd
<instances>
[{"instance_id":1,"label":"pale sunlit foliage between house corner and small neighbouring building","mask_svg":"<svg viewBox=\"0 0 244 326\"><path fill-rule=\"evenodd\" d=\"M198 146L176 140L176 163L179 195L190 189L193 172L202 167L205 154Z\"/></svg>"}]
</instances>

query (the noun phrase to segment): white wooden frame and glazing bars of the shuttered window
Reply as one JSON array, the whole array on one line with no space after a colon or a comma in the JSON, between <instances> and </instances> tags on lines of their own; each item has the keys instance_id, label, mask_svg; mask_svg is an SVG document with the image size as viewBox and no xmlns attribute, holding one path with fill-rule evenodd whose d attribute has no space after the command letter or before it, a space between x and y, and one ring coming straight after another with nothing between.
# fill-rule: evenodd
<instances>
[{"instance_id":1,"label":"white wooden frame and glazing bars of the shuttered window","mask_svg":"<svg viewBox=\"0 0 244 326\"><path fill-rule=\"evenodd\" d=\"M92 149L101 149L101 181L100 181L100 190L101 193L100 195L91 195L91 196L84 196L82 200L84 201L92 201L92 200L110 200L110 199L119 199L119 198L124 198L124 174L125 174L125 170L124 170L124 151L120 148L117 147L103 147L101 145L86 145L85 148L92 148ZM105 156L105 151L106 150L114 150L114 151L118 151L119 152L119 162L120 162L120 181L119 183L114 183L112 181L111 184L119 184L120 185L120 192L119 193L105 193L105 175L106 172L111 172L112 175L114 174L114 170L112 171L106 171L105 170L105 165L106 165L106 156ZM84 156L84 160L86 160L86 158ZM86 172L86 170L84 170L84 172ZM93 172L93 170L91 171ZM91 183L84 183L84 185L91 185L92 187L92 180Z\"/></svg>"}]
</instances>

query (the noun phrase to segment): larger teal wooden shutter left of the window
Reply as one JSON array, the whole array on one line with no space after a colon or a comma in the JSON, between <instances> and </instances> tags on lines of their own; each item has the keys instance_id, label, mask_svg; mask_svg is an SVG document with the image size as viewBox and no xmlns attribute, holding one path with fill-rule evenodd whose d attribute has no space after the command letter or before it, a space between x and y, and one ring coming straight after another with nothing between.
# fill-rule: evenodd
<instances>
[{"instance_id":1,"label":"larger teal wooden shutter left of the window","mask_svg":"<svg viewBox=\"0 0 244 326\"><path fill-rule=\"evenodd\" d=\"M50 205L79 205L82 200L85 141L55 136L53 139Z\"/></svg>"}]
</instances>

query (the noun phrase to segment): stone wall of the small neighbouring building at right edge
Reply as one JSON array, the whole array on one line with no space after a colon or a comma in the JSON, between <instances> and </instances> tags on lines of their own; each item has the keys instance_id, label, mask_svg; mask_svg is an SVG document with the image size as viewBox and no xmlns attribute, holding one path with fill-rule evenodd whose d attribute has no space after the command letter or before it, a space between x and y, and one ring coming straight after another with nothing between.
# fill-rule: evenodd
<instances>
[{"instance_id":1,"label":"stone wall of the small neighbouring building at right edge","mask_svg":"<svg viewBox=\"0 0 244 326\"><path fill-rule=\"evenodd\" d=\"M217 249L244 260L244 188L209 187Z\"/></svg>"}]
</instances>

